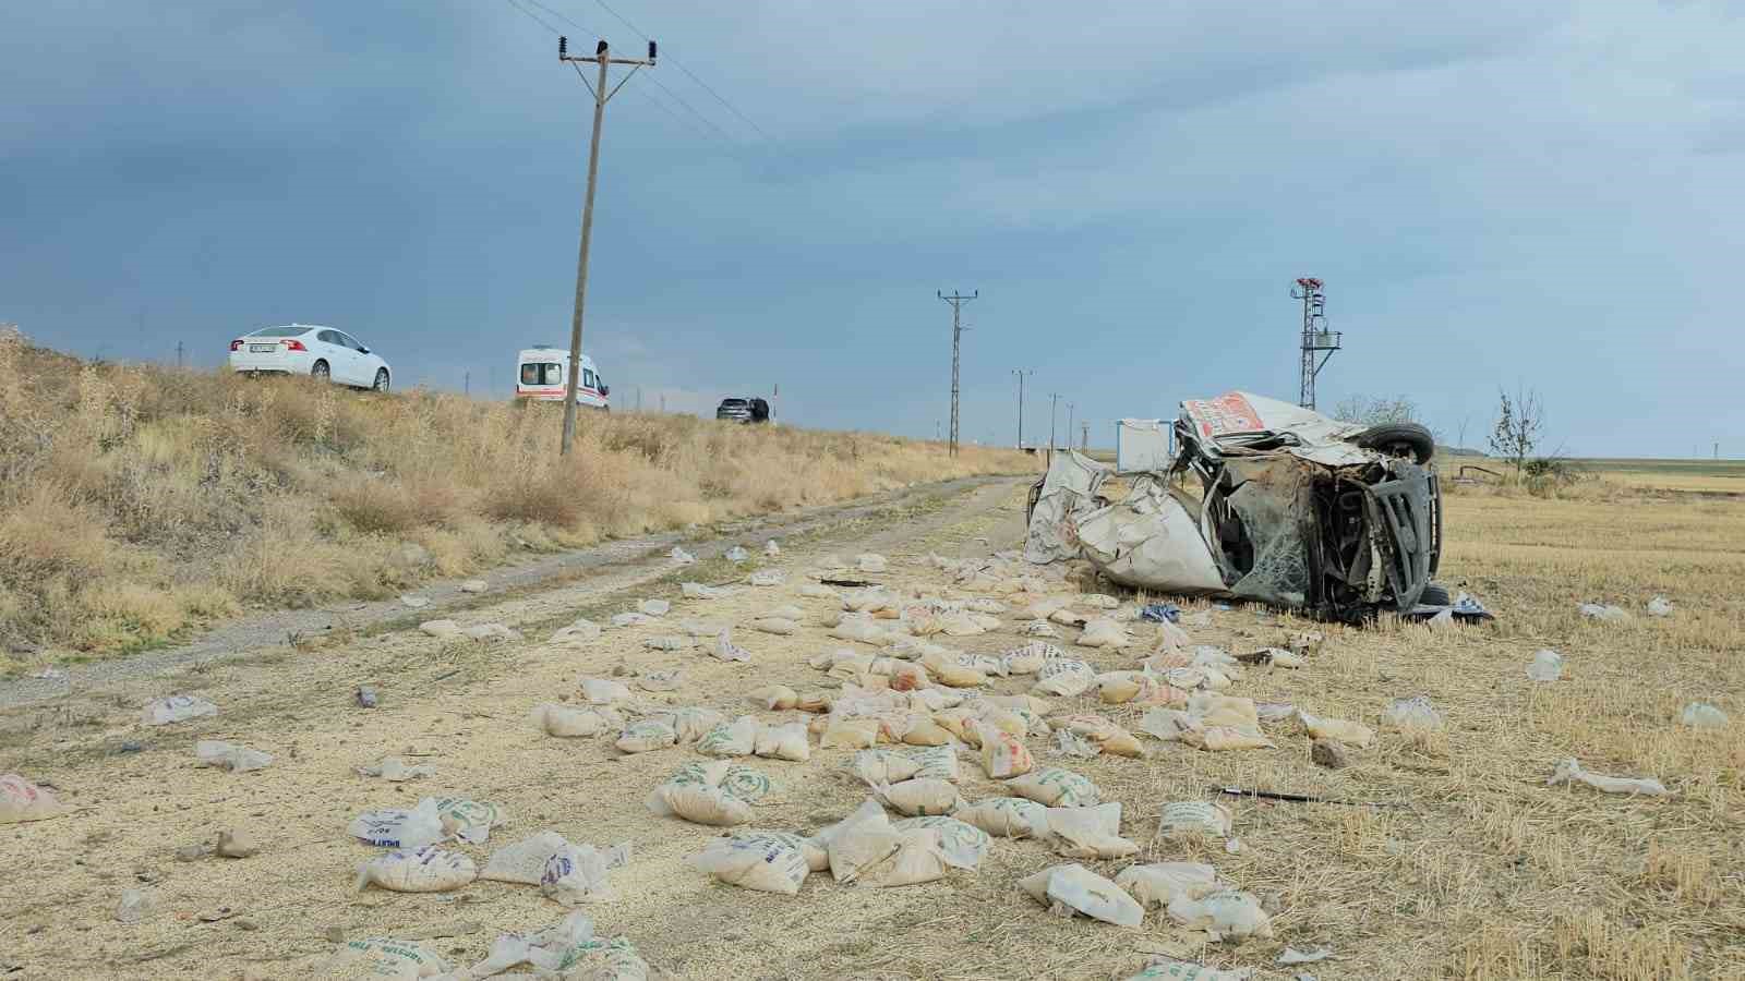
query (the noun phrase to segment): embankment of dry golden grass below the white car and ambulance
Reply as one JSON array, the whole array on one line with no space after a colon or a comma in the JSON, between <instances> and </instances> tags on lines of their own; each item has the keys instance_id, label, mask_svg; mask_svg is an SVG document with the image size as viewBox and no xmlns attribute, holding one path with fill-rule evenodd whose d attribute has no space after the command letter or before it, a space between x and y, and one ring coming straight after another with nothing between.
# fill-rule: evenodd
<instances>
[{"instance_id":1,"label":"embankment of dry golden grass below the white car and ambulance","mask_svg":"<svg viewBox=\"0 0 1745 981\"><path fill-rule=\"evenodd\" d=\"M606 536L1035 468L1014 452L96 365L0 330L0 670L241 606L382 597Z\"/></svg>"}]
</instances>

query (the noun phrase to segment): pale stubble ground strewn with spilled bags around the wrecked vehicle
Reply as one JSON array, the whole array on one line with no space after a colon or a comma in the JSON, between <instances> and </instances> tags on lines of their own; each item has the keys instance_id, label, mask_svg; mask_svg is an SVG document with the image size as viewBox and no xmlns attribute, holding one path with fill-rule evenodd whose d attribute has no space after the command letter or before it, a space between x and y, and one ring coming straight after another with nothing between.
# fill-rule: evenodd
<instances>
[{"instance_id":1,"label":"pale stubble ground strewn with spilled bags around the wrecked vehicle","mask_svg":"<svg viewBox=\"0 0 1745 981\"><path fill-rule=\"evenodd\" d=\"M68 810L0 831L0 868L10 869L0 882L0 908L7 911L0 920L0 976L316 978L342 943L365 937L393 937L403 941L393 950L422 951L431 974L441 960L455 978L489 976L490 967L464 971L487 958L499 934L564 920L571 909L557 897L571 895L565 883L574 880L555 882L553 897L541 885L483 880L447 892L359 892L358 866L384 848L347 834L347 824L366 810L461 796L496 805L506 817L485 843L443 845L478 868L496 848L541 831L576 845L630 845L628 862L609 871L609 888L579 897L576 906L600 937L625 943L571 948L579 958L567 969L572 978L635 978L637 964L646 964L649 976L696 979L1206 979L1242 978L1242 971L1255 978L1307 972L1323 981L1745 978L1740 503L1618 489L1604 499L1462 490L1447 501L1441 578L1480 597L1495 613L1494 625L1433 630L1384 621L1359 630L1260 607L1183 602L1181 637L1131 618L1145 597L1096 599L1108 590L1000 559L996 553L1021 538L1023 490L1023 480L989 482L925 513L785 539L777 555L764 555L763 541L745 539L750 555L742 566L705 559L675 567L660 560L630 580L602 574L592 585L503 602L487 593L475 607L443 614L461 628L503 623L517 632L497 639L431 627L443 635L396 628L335 637L307 651L262 648L150 681L75 686L54 702L9 710L0 717L0 770L52 784ZM888 567L862 573L862 553L886 557ZM878 569L878 562L866 569ZM825 587L820 576L872 580L883 590ZM754 578L780 581L752 585ZM689 599L684 581L729 592ZM1656 595L1672 600L1670 614L1649 614ZM651 599L667 600L670 609L611 627L616 614ZM1586 618L1577 613L1583 602L1616 604L1625 616ZM1035 604L1042 607L1030 609ZM855 606L871 616L860 620L845 609ZM1129 642L1084 648L1075 644L1078 628L1059 623L1054 639L1030 635L1031 614L1049 607L1113 618L1117 642ZM792 620L794 632L757 630L754 621L768 614ZM871 642L832 637L827 625L845 616L848 627L834 630ZM606 628L553 637L576 618ZM1054 618L1075 620L1059 611ZM717 660L717 627L731 627L747 662ZM1035 641L1061 651L1042 658L1056 665L1044 669L1054 684L1070 688L1075 677L1077 669L1057 667L1064 660L1094 672L1152 663L1176 669L1166 677L1181 686L1223 688L1227 681L1218 695L1249 702L1208 707L1208 691L1124 686L1108 676L1084 693L1040 695L1045 703L977 702L1031 691L1038 676L1000 670L1037 665L1019 656L995 667L995 660L960 660L927 648L998 658ZM1293 642L1302 651L1300 667L1228 665L1223 655L1204 649L1249 655ZM668 644L677 649L654 649ZM1529 681L1527 663L1541 648L1562 655L1560 681ZM817 658L836 649L852 655L834 665ZM918 660L907 660L913 656ZM813 667L815 658L829 670ZM968 688L888 691L914 684L921 677L916 663L927 679ZM599 737L546 735L530 712L543 703L585 710L581 679L628 688L614 709L621 721ZM354 703L359 684L373 686L379 707ZM810 707L834 703L836 714L770 709L768 686L787 686ZM209 698L218 714L141 724L150 698L176 693ZM1110 702L1134 693L1155 705ZM1429 700L1440 728L1399 730L1384 721L1394 700L1412 696ZM949 707L960 698L967 702ZM1691 702L1712 703L1733 721L1686 726L1680 717ZM859 724L852 717L857 703L876 721ZM1160 716L1171 703L1199 714L1202 728L1195 731L1187 716ZM1317 766L1304 721L1281 707L1286 703L1317 724L1365 726L1373 738L1347 747L1345 768ZM1031 710L1014 710L1019 705ZM749 714L759 726L801 723L832 731L808 733L804 761L733 759L768 777L770 791L761 794L754 777L736 772L726 791L684 806L745 822L693 824L658 817L647 806L681 768L691 770L693 780L721 777L696 773L693 765L712 759L698 745L729 744L735 733L695 740L698 733L679 730L712 719L661 716L691 707L729 723ZM1213 735L1216 719L1208 712L1232 712L1235 726ZM1249 712L1258 716L1258 742L1270 745L1194 745L1255 742L1232 738L1244 731ZM579 726L599 716L562 717ZM625 728L665 742L661 723L681 745L630 754L616 747ZM960 745L946 754L956 759L955 782L907 789L890 782L878 792L892 805L949 812L958 801L974 805L1019 791L1042 798L1063 792L1056 801L1063 805L1091 803L1091 789L1070 780L1026 785L1024 777L996 780L984 770L984 763L1016 768L1028 756L1037 770L1064 768L1094 784L1098 801L1120 805L1119 826L1082 827L1085 813L1106 812L1037 813L1007 805L1007 812L1024 815L1007 829L1033 834L993 836L974 869L944 862L942 840L932 833L885 827L899 813L878 805L864 822L817 838L874 792L855 770L857 749L827 742L937 742L935 730L956 742L1005 749L989 759ZM998 735L1014 730L1023 733L1016 738L1023 751ZM1176 738L1166 742L1145 730ZM1063 738L1063 731L1082 735ZM1361 735L1347 731L1352 742ZM1143 756L1113 754L1133 749L1127 737L1136 737ZM243 773L206 768L194 752L201 738L229 740L274 759ZM1057 749L1073 744L1084 752L1098 740L1106 740L1110 752L1082 758ZM883 742L879 749L921 752ZM358 773L384 756L428 765L433 773L405 782ZM1546 785L1570 758L1593 773L1658 780L1666 796ZM904 775L902 761L890 756L859 763L866 775ZM934 759L930 766L946 763ZM1216 787L1330 803L1228 798ZM1162 834L1160 815L1181 801L1227 808L1228 833ZM986 817L986 810L960 813ZM1180 817L1183 808L1169 813ZM1211 815L1216 820L1216 812ZM202 854L199 845L234 827L253 833L260 852L239 859ZM689 862L722 834L749 829L815 836L761 843L775 859L771 868L792 868L801 857L797 894L728 885ZM949 857L967 864L961 847L974 834L953 834ZM188 861L178 861L178 848ZM806 875L804 866L817 866L820 855L825 868ZM1131 875L1122 878L1131 866L1202 862L1248 899L1208 904L1195 895L1209 883L1181 873L1187 880L1173 887L1176 909L1146 908L1136 927L1066 918L1019 885L1066 862L1124 883L1133 882ZM740 873L770 875L763 866ZM909 878L920 882L869 883ZM1071 880L1054 876L1044 888L1049 883L1056 899L1077 901ZM126 890L152 899L136 923L117 920ZM1112 894L1105 899L1106 916L1131 920L1127 902ZM1192 920L1208 909L1223 916L1213 930ZM1215 939L1215 932L1253 936ZM394 962L393 950L380 957ZM1328 957L1279 964L1286 950ZM405 974L380 976L421 976L410 957L394 962ZM1232 974L1195 974L1185 964ZM504 976L536 976L527 964L492 967L508 971Z\"/></svg>"}]
</instances>

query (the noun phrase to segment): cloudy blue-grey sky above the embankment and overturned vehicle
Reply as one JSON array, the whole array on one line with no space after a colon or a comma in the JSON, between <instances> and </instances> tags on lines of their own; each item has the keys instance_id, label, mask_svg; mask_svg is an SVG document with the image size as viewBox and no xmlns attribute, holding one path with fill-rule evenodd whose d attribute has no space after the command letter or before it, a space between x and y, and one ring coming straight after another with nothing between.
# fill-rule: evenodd
<instances>
[{"instance_id":1,"label":"cloudy blue-grey sky above the embankment and overturned vehicle","mask_svg":"<svg viewBox=\"0 0 1745 981\"><path fill-rule=\"evenodd\" d=\"M1740 3L606 2L0 14L0 321L202 365L326 323L506 396L574 288L592 103L550 28L640 30L585 344L619 407L780 384L789 421L932 436L935 290L979 290L963 436L1010 442L1033 368L1026 429L1059 393L1108 443L1295 400L1319 276L1323 407L1408 394L1480 445L1522 384L1572 454L1745 456Z\"/></svg>"}]
</instances>

